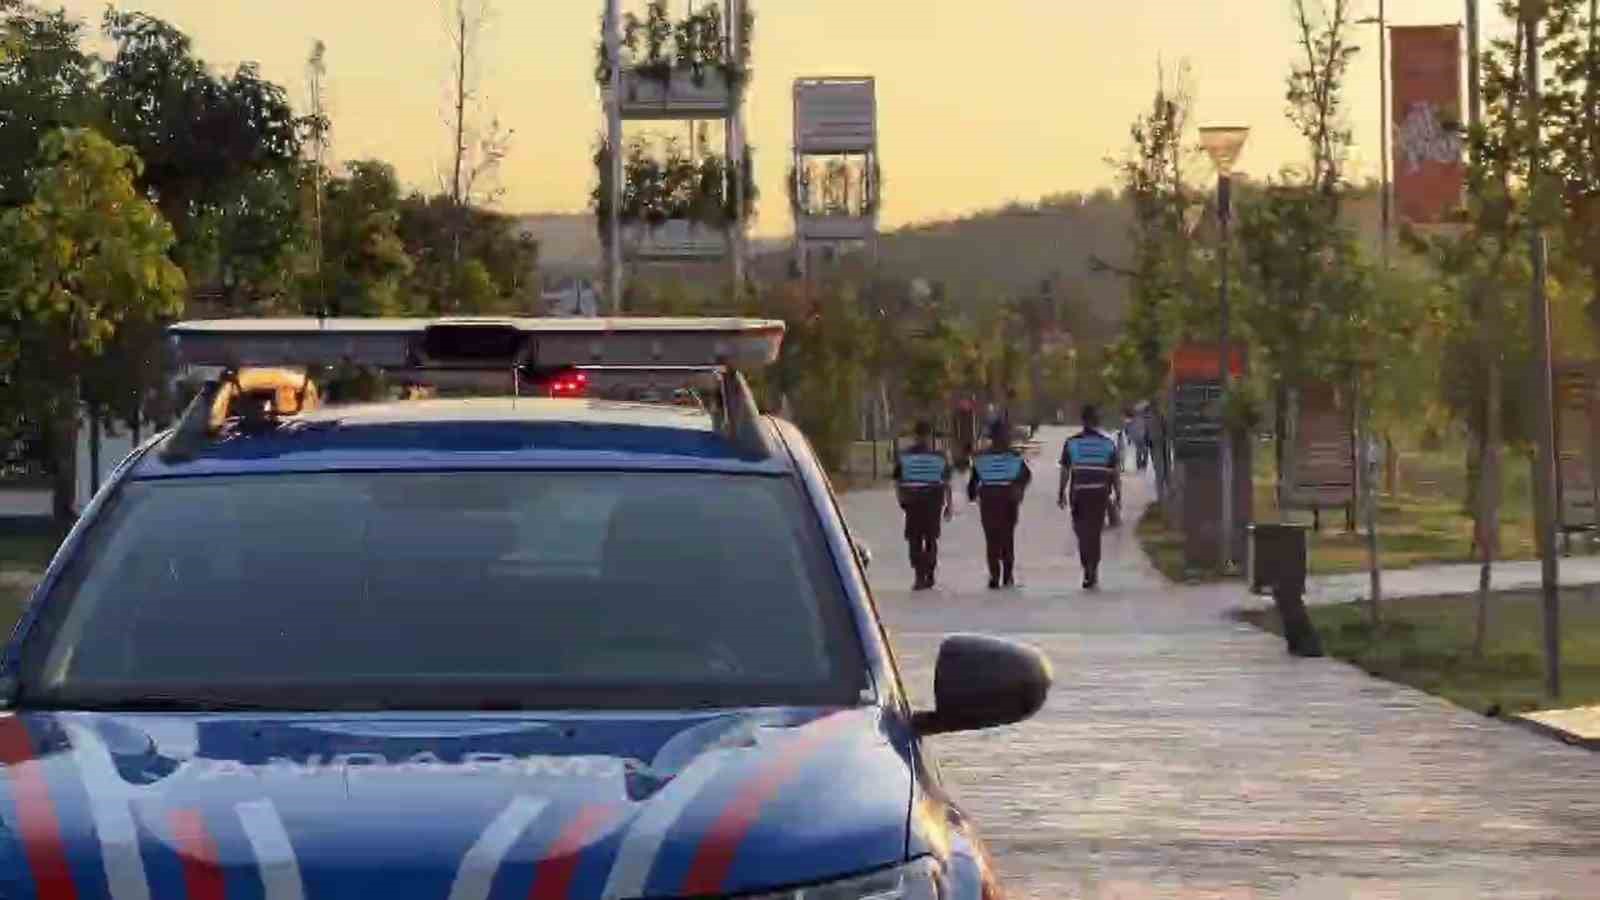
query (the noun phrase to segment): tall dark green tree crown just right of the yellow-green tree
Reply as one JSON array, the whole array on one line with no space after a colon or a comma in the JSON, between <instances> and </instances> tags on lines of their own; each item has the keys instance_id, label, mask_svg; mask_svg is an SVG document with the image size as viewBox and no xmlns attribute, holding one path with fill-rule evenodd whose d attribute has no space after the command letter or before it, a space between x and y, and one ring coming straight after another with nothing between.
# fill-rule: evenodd
<instances>
[{"instance_id":1,"label":"tall dark green tree crown just right of the yellow-green tree","mask_svg":"<svg viewBox=\"0 0 1600 900\"><path fill-rule=\"evenodd\" d=\"M174 259L229 309L285 306L307 242L307 120L254 64L213 75L155 16L110 10L102 30L115 46L99 85L110 136L144 160L139 187L174 229Z\"/></svg>"}]
</instances>

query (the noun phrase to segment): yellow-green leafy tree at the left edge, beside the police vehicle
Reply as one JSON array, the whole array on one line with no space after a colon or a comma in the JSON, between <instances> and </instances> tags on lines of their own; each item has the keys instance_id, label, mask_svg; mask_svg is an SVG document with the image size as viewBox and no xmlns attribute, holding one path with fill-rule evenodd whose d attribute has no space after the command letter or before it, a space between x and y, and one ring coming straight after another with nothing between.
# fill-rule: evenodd
<instances>
[{"instance_id":1,"label":"yellow-green leafy tree at the left edge, beside the police vehicle","mask_svg":"<svg viewBox=\"0 0 1600 900\"><path fill-rule=\"evenodd\" d=\"M138 189L139 159L86 128L46 135L27 203L0 216L0 343L13 402L45 424L53 509L70 524L80 384L118 331L182 309L173 229Z\"/></svg>"}]
</instances>

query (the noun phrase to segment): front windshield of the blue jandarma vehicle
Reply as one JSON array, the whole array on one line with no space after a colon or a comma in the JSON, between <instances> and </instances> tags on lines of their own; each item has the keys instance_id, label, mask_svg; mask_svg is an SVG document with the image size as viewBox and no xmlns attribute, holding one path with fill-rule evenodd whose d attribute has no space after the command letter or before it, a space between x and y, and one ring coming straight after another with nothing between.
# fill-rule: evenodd
<instances>
[{"instance_id":1,"label":"front windshield of the blue jandarma vehicle","mask_svg":"<svg viewBox=\"0 0 1600 900\"><path fill-rule=\"evenodd\" d=\"M29 705L851 703L838 578L781 477L128 484L24 650Z\"/></svg>"}]
</instances>

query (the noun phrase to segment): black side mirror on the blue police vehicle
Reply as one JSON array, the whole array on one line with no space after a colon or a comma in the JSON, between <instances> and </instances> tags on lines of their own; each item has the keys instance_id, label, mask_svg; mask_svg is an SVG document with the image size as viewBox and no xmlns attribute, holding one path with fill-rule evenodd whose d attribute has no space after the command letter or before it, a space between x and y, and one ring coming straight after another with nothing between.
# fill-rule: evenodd
<instances>
[{"instance_id":1,"label":"black side mirror on the blue police vehicle","mask_svg":"<svg viewBox=\"0 0 1600 900\"><path fill-rule=\"evenodd\" d=\"M1021 722L1045 705L1053 677L1050 660L1024 644L947 637L933 674L934 708L917 713L912 725L920 735L942 735Z\"/></svg>"}]
</instances>

